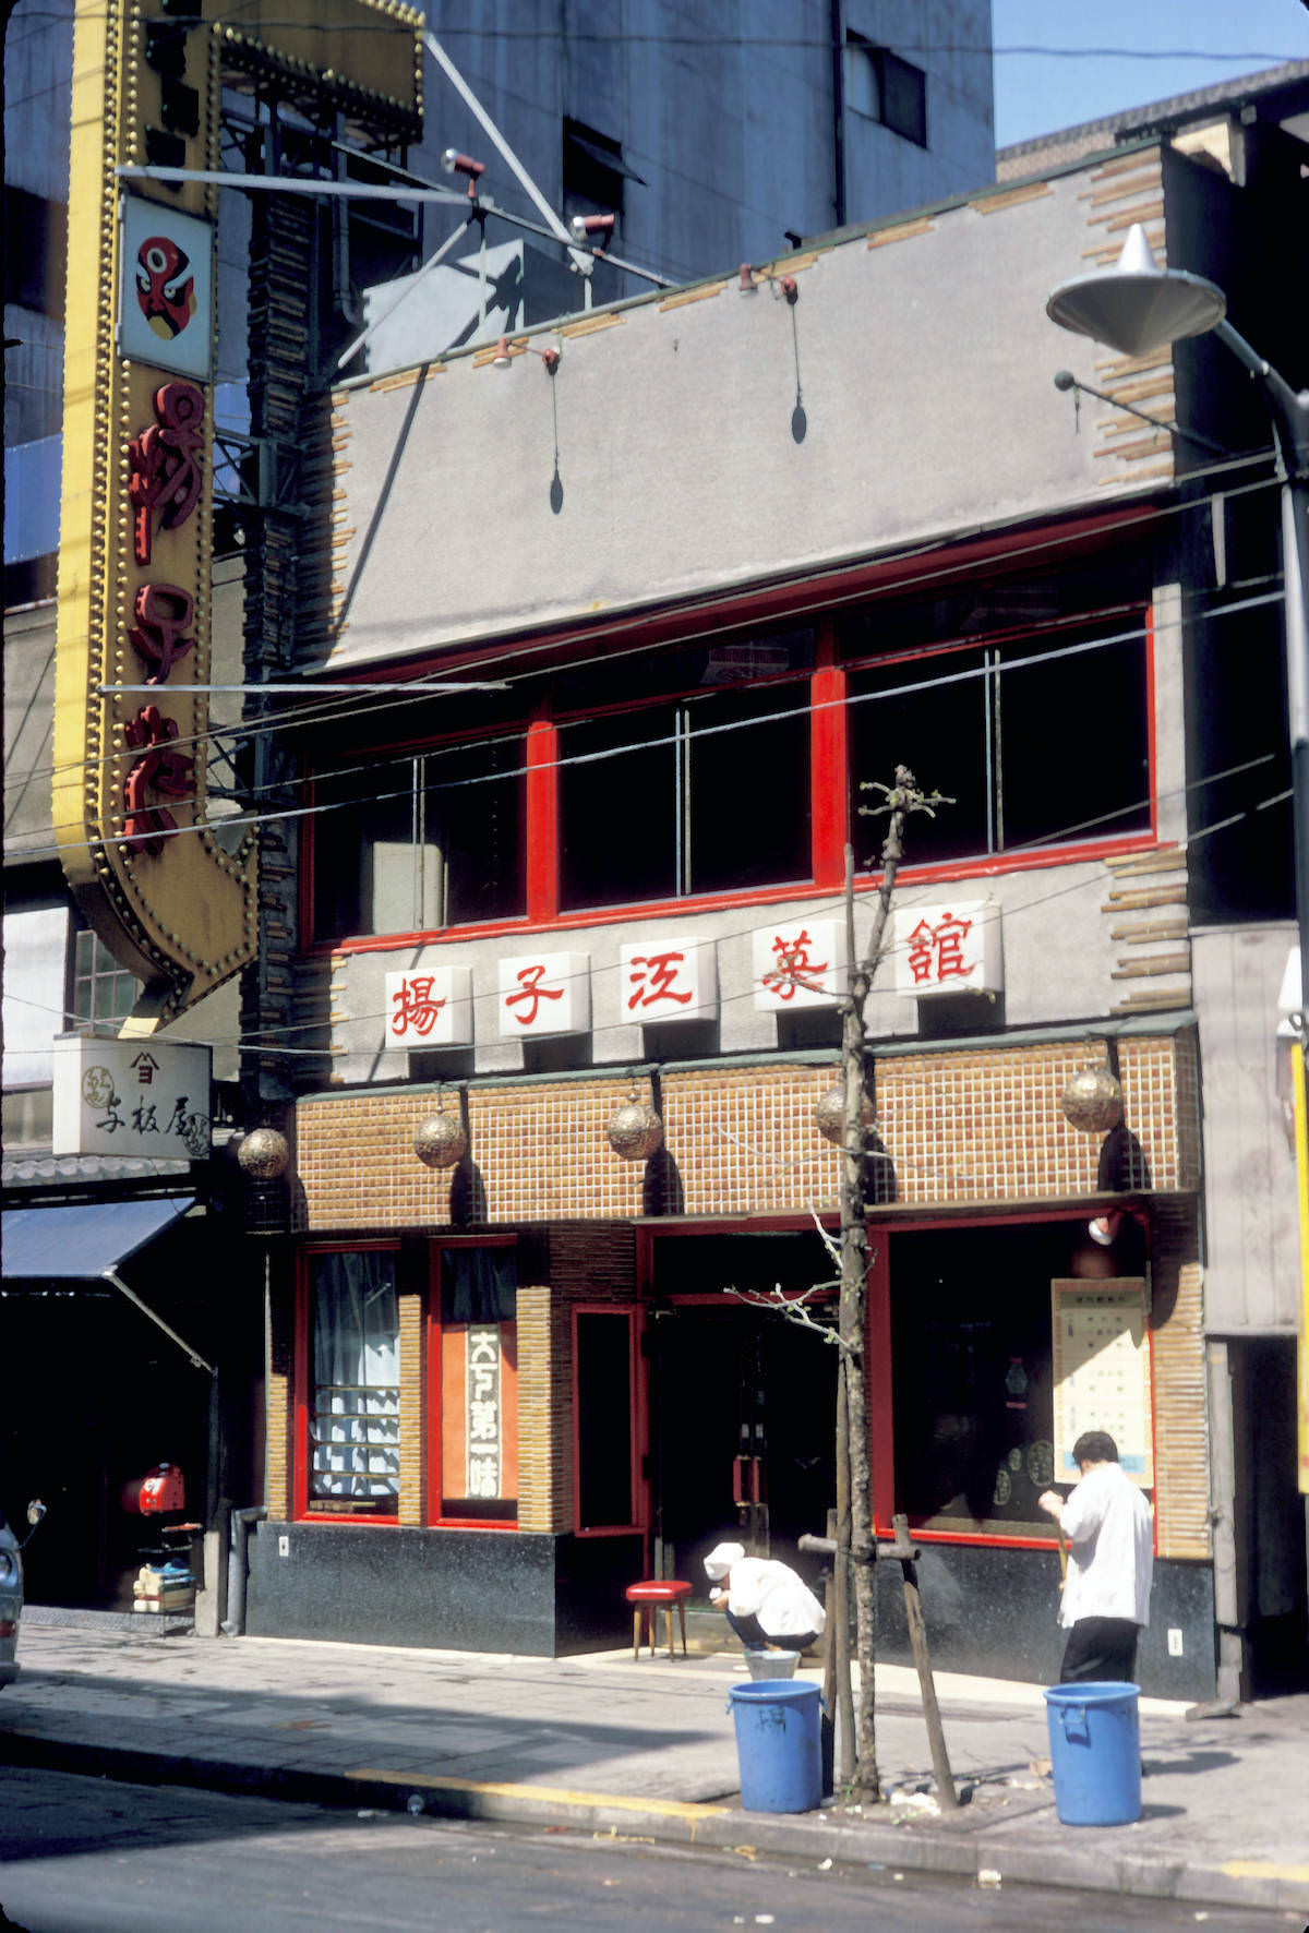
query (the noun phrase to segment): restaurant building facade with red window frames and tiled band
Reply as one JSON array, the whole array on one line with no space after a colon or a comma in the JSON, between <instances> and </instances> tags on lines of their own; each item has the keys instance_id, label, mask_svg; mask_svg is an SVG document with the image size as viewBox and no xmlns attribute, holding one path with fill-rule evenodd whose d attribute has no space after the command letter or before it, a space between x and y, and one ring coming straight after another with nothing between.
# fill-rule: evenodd
<instances>
[{"instance_id":1,"label":"restaurant building facade with red window frames and tiled band","mask_svg":"<svg viewBox=\"0 0 1309 1933\"><path fill-rule=\"evenodd\" d=\"M1154 1504L1149 1689L1257 1674L1237 1546L1288 1601L1266 1653L1303 1628L1268 425L1212 344L1044 315L1143 222L1303 373L1301 151L1216 122L333 396L296 665L360 696L298 735L321 1059L251 1630L568 1651L737 1521L822 1531L831 1351L771 1305L833 1276L843 854L862 936L897 764L951 802L868 1005L872 1483L934 1657L1056 1670L1034 1498L1092 1421Z\"/></svg>"}]
</instances>

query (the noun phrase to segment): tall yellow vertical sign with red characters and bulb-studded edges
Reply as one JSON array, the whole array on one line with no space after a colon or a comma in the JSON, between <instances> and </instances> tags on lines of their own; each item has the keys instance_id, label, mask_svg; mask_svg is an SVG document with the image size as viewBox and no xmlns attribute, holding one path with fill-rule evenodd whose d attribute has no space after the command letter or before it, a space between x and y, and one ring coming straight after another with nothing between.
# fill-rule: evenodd
<instances>
[{"instance_id":1,"label":"tall yellow vertical sign with red characters and bulb-studded edges","mask_svg":"<svg viewBox=\"0 0 1309 1933\"><path fill-rule=\"evenodd\" d=\"M217 189L124 193L116 164L141 155L147 124L166 126L143 48L135 15L77 0L52 787L68 880L143 982L133 1036L257 949L253 831L218 839L197 750L215 678ZM180 15L170 81L201 102L178 133L197 174L218 164L217 62L199 15ZM228 677L240 677L238 632L234 609Z\"/></svg>"}]
</instances>

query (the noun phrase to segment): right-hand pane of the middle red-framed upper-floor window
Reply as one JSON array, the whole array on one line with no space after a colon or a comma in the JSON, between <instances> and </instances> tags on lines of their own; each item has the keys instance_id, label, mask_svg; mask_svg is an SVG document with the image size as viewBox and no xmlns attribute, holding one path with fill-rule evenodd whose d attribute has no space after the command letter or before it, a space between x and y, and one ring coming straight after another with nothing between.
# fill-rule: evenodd
<instances>
[{"instance_id":1,"label":"right-hand pane of the middle red-framed upper-floor window","mask_svg":"<svg viewBox=\"0 0 1309 1933\"><path fill-rule=\"evenodd\" d=\"M810 880L808 682L694 698L686 717L686 891Z\"/></svg>"}]
</instances>

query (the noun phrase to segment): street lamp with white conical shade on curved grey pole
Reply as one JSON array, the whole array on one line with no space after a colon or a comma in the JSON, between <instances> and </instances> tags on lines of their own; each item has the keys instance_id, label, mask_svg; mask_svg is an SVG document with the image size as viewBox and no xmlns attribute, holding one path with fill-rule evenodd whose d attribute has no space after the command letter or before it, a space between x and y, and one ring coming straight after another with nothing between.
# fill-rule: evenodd
<instances>
[{"instance_id":1,"label":"street lamp with white conical shade on curved grey pole","mask_svg":"<svg viewBox=\"0 0 1309 1933\"><path fill-rule=\"evenodd\" d=\"M1164 348L1212 331L1253 375L1272 418L1282 472L1282 603L1286 615L1286 702L1292 736L1295 825L1295 924L1309 963L1309 390L1295 390L1226 319L1228 298L1183 269L1158 269L1137 222L1116 267L1063 282L1046 302L1060 329L1106 342L1123 356ZM1301 1044L1307 1023L1301 1015Z\"/></svg>"}]
</instances>

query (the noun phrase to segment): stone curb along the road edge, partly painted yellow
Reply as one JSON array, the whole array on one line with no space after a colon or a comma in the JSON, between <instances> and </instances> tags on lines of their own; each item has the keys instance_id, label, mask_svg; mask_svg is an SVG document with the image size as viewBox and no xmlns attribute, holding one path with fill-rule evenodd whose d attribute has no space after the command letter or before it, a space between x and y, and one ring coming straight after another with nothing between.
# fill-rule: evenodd
<instances>
[{"instance_id":1,"label":"stone curb along the road edge, partly painted yellow","mask_svg":"<svg viewBox=\"0 0 1309 1933\"><path fill-rule=\"evenodd\" d=\"M1067 1840L1058 1861L1048 1852L1023 1846L980 1844L976 1831L930 1831L922 1825L858 1825L810 1821L791 1813L744 1813L739 1803L688 1803L632 1800L599 1792L485 1784L364 1767L319 1773L294 1765L249 1765L236 1759L203 1759L131 1745L89 1745L39 1734L0 1734L0 1763L33 1771L79 1773L133 1784L172 1784L207 1792L261 1794L338 1809L365 1807L408 1811L410 1796L423 1800L433 1819L483 1819L499 1825L563 1825L607 1838L702 1846L717 1852L770 1852L785 1858L829 1858L843 1865L878 1863L901 1871L971 1879L980 1885L1031 1885L1079 1892L1131 1894L1150 1900L1183 1900L1197 1906L1249 1906L1272 1912L1309 1908L1309 1875L1303 1867L1251 1871L1197 1865L1181 1860L1077 1852ZM735 1796L733 1796L735 1798ZM984 1831L984 1827L980 1829Z\"/></svg>"}]
</instances>

